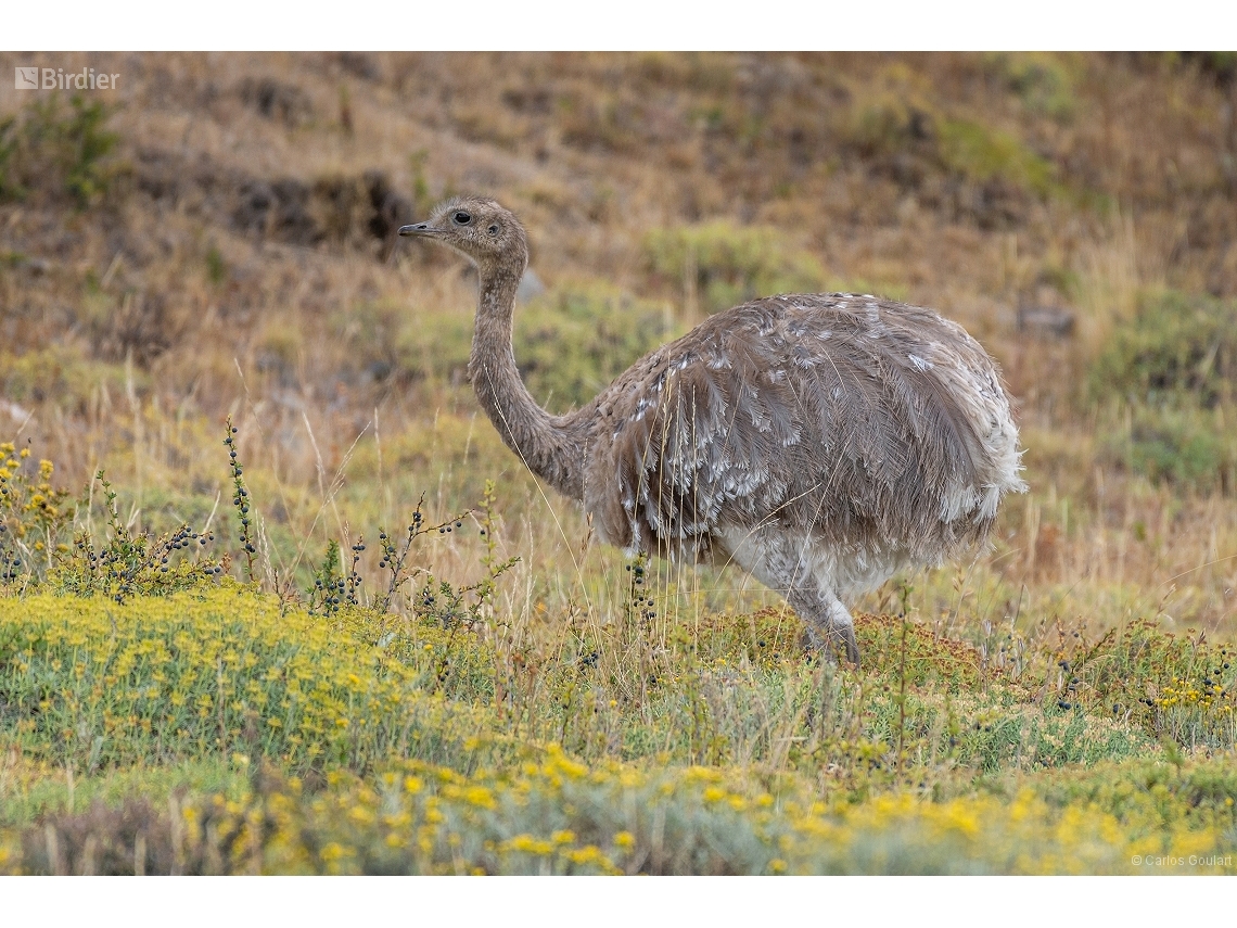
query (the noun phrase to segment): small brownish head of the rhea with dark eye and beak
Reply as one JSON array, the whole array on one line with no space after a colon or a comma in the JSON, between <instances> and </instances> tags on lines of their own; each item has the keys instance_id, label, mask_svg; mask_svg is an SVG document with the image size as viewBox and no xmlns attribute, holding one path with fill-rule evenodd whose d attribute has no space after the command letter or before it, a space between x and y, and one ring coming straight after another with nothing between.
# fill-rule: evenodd
<instances>
[{"instance_id":1,"label":"small brownish head of the rhea with dark eye and beak","mask_svg":"<svg viewBox=\"0 0 1237 928\"><path fill-rule=\"evenodd\" d=\"M401 226L400 234L447 245L475 261L482 271L510 265L508 270L518 278L528 262L524 226L510 210L484 197L447 200L428 221Z\"/></svg>"}]
</instances>

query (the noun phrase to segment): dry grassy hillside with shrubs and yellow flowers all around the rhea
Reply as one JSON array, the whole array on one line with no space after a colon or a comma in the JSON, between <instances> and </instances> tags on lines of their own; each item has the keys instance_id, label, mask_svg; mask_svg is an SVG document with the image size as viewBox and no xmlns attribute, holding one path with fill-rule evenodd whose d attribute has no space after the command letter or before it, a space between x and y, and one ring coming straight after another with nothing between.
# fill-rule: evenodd
<instances>
[{"instance_id":1,"label":"dry grassy hillside with shrubs and yellow flowers all around the rhea","mask_svg":"<svg viewBox=\"0 0 1237 928\"><path fill-rule=\"evenodd\" d=\"M0 870L1232 872L1233 64L0 88ZM862 667L808 659L750 578L591 543L477 415L474 278L393 235L454 192L528 228L548 407L743 298L872 291L999 360L1030 492L857 604Z\"/></svg>"}]
</instances>

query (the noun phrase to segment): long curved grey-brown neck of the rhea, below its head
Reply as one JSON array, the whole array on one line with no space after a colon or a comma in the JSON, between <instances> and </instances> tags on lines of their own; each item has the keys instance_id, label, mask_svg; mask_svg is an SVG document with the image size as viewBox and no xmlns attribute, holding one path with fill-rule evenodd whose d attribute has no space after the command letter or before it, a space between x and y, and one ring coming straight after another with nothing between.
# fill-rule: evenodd
<instances>
[{"instance_id":1,"label":"long curved grey-brown neck of the rhea, below its head","mask_svg":"<svg viewBox=\"0 0 1237 928\"><path fill-rule=\"evenodd\" d=\"M520 262L523 265L523 262ZM523 267L480 267L476 332L469 377L490 422L528 469L559 492L584 499L581 437L529 395L511 348L511 319Z\"/></svg>"}]
</instances>

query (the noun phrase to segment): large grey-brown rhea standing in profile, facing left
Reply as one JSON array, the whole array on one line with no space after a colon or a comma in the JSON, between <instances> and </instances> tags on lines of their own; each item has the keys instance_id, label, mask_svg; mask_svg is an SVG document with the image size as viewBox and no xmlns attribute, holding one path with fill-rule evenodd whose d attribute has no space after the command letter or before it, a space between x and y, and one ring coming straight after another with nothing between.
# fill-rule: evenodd
<instances>
[{"instance_id":1,"label":"large grey-brown rhea standing in profile, facing left","mask_svg":"<svg viewBox=\"0 0 1237 928\"><path fill-rule=\"evenodd\" d=\"M844 600L981 543L1001 497L1025 490L996 364L931 309L852 293L753 299L553 416L512 350L528 262L516 217L458 198L400 235L476 265L468 372L507 447L581 502L602 541L740 564L785 596L813 648L858 663Z\"/></svg>"}]
</instances>

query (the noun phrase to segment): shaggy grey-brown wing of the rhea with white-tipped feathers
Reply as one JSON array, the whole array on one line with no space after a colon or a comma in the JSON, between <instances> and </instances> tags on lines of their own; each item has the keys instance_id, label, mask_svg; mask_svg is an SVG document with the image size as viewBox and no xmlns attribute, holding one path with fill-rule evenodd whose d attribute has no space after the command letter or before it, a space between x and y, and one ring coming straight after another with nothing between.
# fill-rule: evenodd
<instances>
[{"instance_id":1,"label":"shaggy grey-brown wing of the rhea with white-tipped feathers","mask_svg":"<svg viewBox=\"0 0 1237 928\"><path fill-rule=\"evenodd\" d=\"M957 391L991 361L935 313L877 306L758 301L637 363L599 397L585 505L602 536L664 551L777 523L938 551L975 535L959 516L987 449Z\"/></svg>"}]
</instances>

